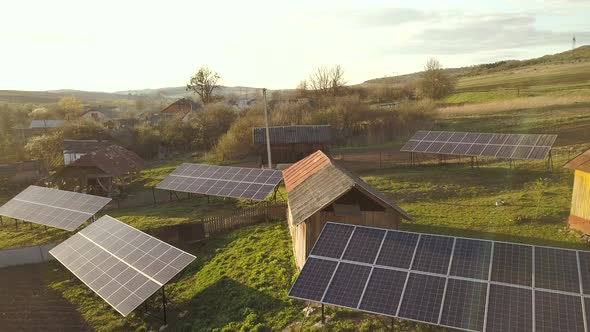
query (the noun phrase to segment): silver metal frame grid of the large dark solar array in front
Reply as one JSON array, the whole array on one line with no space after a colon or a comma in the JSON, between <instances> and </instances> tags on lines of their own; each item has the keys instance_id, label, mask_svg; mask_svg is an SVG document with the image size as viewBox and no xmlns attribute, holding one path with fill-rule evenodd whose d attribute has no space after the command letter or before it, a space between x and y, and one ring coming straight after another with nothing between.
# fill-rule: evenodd
<instances>
[{"instance_id":1,"label":"silver metal frame grid of the large dark solar array in front","mask_svg":"<svg viewBox=\"0 0 590 332\"><path fill-rule=\"evenodd\" d=\"M358 303L356 305L356 307L352 307L352 306L343 306L343 305L339 305L339 304L333 304L333 303L327 303L324 300L324 298L322 297L321 300L317 301L317 300L310 300L310 299L306 299L303 297L298 297L297 295L292 295L291 292L293 290L293 288L291 288L291 290L289 291L289 297L291 298L296 298L296 299L300 299L300 300L305 300L305 301L312 301L312 302L318 302L318 303L322 303L322 304L327 304L327 305L331 305L331 306L337 306L337 307L344 307L344 308L348 308L348 309L354 309L354 310L358 310L358 311L363 311L363 312L367 312L367 313L371 313L371 314L377 314L377 315L385 315L385 316L389 316L389 317L395 317L395 318L400 318L403 320L410 320L410 321L416 321L416 322L421 322L421 323L428 323L428 324L433 324L433 325L438 325L438 326L444 326L444 327L449 327L449 328L453 328L453 329L459 329L459 330L465 330L465 331L479 331L479 330L469 330L469 329L465 329L462 327L458 327L458 326L448 326L448 325L444 325L441 324L441 319L442 319L442 314L443 314L443 310L445 309L445 300L446 300L446 291L447 291L447 286L448 286L448 282L449 280L463 280L463 281L470 281L470 282L477 282L477 283L483 283L485 284L486 288L487 288L487 292L486 292L486 298L485 298L485 309L483 312L484 315L484 321L483 321L483 329L481 331L485 331L486 327L487 327L487 323L488 323L488 303L489 303L489 298L490 298L490 287L492 285L498 285L498 286L504 286L504 287L511 287L514 289L523 289L523 290L530 290L531 294L532 294L532 308L531 308L531 324L532 324L532 330L535 331L535 320L537 319L536 317L536 313L535 313L535 293L536 292L544 292L544 293L552 293L552 294L561 294L561 295L569 295L569 296L576 296L577 298L580 299L581 304L582 304L582 319L584 321L584 328L585 331L588 332L588 319L590 319L590 317L587 317L587 313L586 311L590 312L590 308L587 308L586 306L586 302L590 303L590 294L585 295L584 294L584 289L583 289L583 285L582 285L582 272L581 272L581 264L580 264L580 253L586 253L586 254L590 254L590 251L581 251L581 250L574 250L574 249L566 249L566 248L556 248L556 247L547 247L547 246L537 246L537 245L529 245L529 244L519 244L519 243L510 243L510 242L503 242L503 241L492 241L492 240L484 240L484 239L474 239L474 238L465 238L465 237L457 237L457 236L448 236L448 235L438 235L438 234L425 234L425 233L417 233L417 232L407 232L407 231L399 231L399 230L386 230L385 235L383 236L383 239L381 239L381 247L379 248L379 252L377 253L374 262L371 263L364 263L364 262L358 262L358 261L351 261L351 260L346 260L344 259L344 253L347 251L348 249L348 245L350 243L350 240L352 239L355 231L359 228L368 228L368 229L377 229L377 230L385 230L383 228L378 228L378 227L369 227L369 226L354 226L354 225L349 225L349 224L341 224L341 223L335 223L335 222L328 222L326 225L329 224L334 224L334 225L345 225L348 227L354 227L353 231L350 233L349 237L347 239L343 239L342 241L346 241L346 245L344 246L344 249L342 251L342 255L340 256L340 258L334 258L334 257L324 257L324 256L318 256L318 255L313 255L310 254L309 258L313 258L315 260L325 260L325 261L331 261L333 263L336 263L336 268L334 269L333 273L332 273L332 278L334 277L334 274L338 268L338 265L340 263L346 263L346 264L357 264L357 265L361 265L361 266L366 266L366 267L370 267L371 271L367 277L367 279L365 280L365 290L363 291L363 294L361 295L360 299L358 300ZM325 230L325 228L324 228ZM322 230L322 233L324 232L324 230ZM321 234L320 233L320 236ZM410 261L410 265L408 268L400 268L400 267L391 267L391 266L385 266L385 265L380 265L377 264L377 262L379 261L379 257L381 255L381 249L383 247L383 242L385 241L385 238L387 237L388 234L391 233L402 233L402 234L416 234L418 236L418 240L416 241L415 245L414 245L414 251L412 253L412 258ZM414 264L414 259L416 257L416 252L418 250L418 246L420 244L420 240L422 238L422 235L427 235L427 236L440 236L440 237L446 237L446 238L452 238L453 239L453 248L452 248L452 253L451 253L451 257L448 263L448 269L446 271L446 274L440 274L440 273L432 273L432 272L423 272L423 271L419 271L419 270L413 270L413 264ZM319 238L318 238L319 239ZM485 242L485 243L490 243L491 244L491 249L490 249L490 255L489 255L489 259L488 259L488 272L487 272L487 279L478 279L478 278L473 278L473 277L462 277L462 276L456 276L456 275L452 275L451 274L451 269L453 267L453 257L454 257L454 251L455 251L455 246L457 244L457 240L469 240L469 241L481 241L481 242ZM524 286L524 285L519 285L519 284L510 284L510 283L505 283L505 282L499 282L499 281L493 281L492 280L492 267L494 264L494 247L496 243L502 243L502 244L508 244L508 245L522 245L522 246L528 246L532 248L532 257L531 257L531 271L532 276L531 276L531 285L530 286ZM314 248L315 248L314 244ZM557 289L547 289L547 288L540 288L537 287L535 285L535 251L536 248L548 248L548 249L557 249L557 250L564 250L564 251L568 251L568 252L575 252L576 253L576 259L577 259L577 270L578 270L578 279L580 282L579 285L579 292L568 292L568 291L562 291L562 290L557 290ZM312 248L312 252L313 252L313 248ZM588 259L588 263L590 263L590 257L587 257ZM305 265L304 265L305 268ZM369 285L369 283L371 282L371 275L373 273L374 269L384 269L384 270L390 270L390 271L398 271L398 272L404 272L406 273L406 282L404 284L404 288L402 290L401 296L399 298L399 302L397 303L397 312L395 315L390 315L390 314L386 314L386 313L382 313L382 312L376 312L376 311L371 311L371 310L366 310L362 308L362 303L364 300L364 296L365 296L365 291ZM419 321L419 320L414 320L414 319L409 319L409 318L405 318L405 317L400 317L399 313L401 310L401 307L403 305L403 300L404 300L404 296L405 296L405 291L406 291L406 286L408 283L408 280L410 278L411 274L422 274L422 275L426 275L426 276L436 276L436 277L443 277L446 278L445 281L445 288L444 288L444 293L443 293L443 297L442 297L442 302L440 305L440 312L438 315L438 322L437 323L430 323L430 322L426 322L426 321ZM330 278L330 281L328 282L328 285L325 288L324 291L324 296L326 291L328 290L328 288L331 285L332 282L332 278ZM587 291L588 292L588 291Z\"/></svg>"}]
</instances>

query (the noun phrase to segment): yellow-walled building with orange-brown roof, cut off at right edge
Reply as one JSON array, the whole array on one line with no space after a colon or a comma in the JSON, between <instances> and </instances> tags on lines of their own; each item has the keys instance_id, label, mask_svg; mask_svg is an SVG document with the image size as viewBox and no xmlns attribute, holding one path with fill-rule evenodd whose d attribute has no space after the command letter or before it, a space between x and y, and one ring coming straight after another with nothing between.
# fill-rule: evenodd
<instances>
[{"instance_id":1,"label":"yellow-walled building with orange-brown roof, cut off at right edge","mask_svg":"<svg viewBox=\"0 0 590 332\"><path fill-rule=\"evenodd\" d=\"M564 167L575 171L570 227L590 234L590 150L570 160Z\"/></svg>"}]
</instances>

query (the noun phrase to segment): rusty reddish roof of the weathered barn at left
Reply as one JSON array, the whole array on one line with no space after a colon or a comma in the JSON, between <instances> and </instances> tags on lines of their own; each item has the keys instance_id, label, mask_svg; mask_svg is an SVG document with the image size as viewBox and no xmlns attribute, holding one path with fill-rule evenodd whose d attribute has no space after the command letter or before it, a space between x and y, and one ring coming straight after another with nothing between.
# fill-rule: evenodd
<instances>
[{"instance_id":1,"label":"rusty reddish roof of the weathered barn at left","mask_svg":"<svg viewBox=\"0 0 590 332\"><path fill-rule=\"evenodd\" d=\"M110 176L123 176L143 168L143 160L132 151L118 145L110 145L83 155L66 166L96 167Z\"/></svg>"}]
</instances>

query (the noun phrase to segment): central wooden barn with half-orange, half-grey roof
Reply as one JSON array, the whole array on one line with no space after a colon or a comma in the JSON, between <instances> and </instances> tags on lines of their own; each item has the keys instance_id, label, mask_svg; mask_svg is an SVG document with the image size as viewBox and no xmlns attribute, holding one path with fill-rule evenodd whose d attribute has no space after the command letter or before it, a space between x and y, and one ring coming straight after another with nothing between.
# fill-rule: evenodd
<instances>
[{"instance_id":1,"label":"central wooden barn with half-orange, half-grey roof","mask_svg":"<svg viewBox=\"0 0 590 332\"><path fill-rule=\"evenodd\" d=\"M317 151L283 171L287 219L299 268L328 221L397 229L404 210L356 175Z\"/></svg>"}]
</instances>

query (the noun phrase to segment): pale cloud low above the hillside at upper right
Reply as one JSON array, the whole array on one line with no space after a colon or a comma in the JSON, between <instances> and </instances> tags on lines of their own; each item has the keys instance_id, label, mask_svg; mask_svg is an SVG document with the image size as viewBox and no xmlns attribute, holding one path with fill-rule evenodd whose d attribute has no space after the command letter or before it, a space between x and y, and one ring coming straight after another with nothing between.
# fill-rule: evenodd
<instances>
[{"instance_id":1,"label":"pale cloud low above the hillside at upper right","mask_svg":"<svg viewBox=\"0 0 590 332\"><path fill-rule=\"evenodd\" d=\"M396 45L402 54L467 54L478 51L522 49L525 47L569 45L572 33L542 30L535 18L526 14L466 16L443 27L427 27L410 40ZM590 32L576 33L578 40L588 40Z\"/></svg>"}]
</instances>

